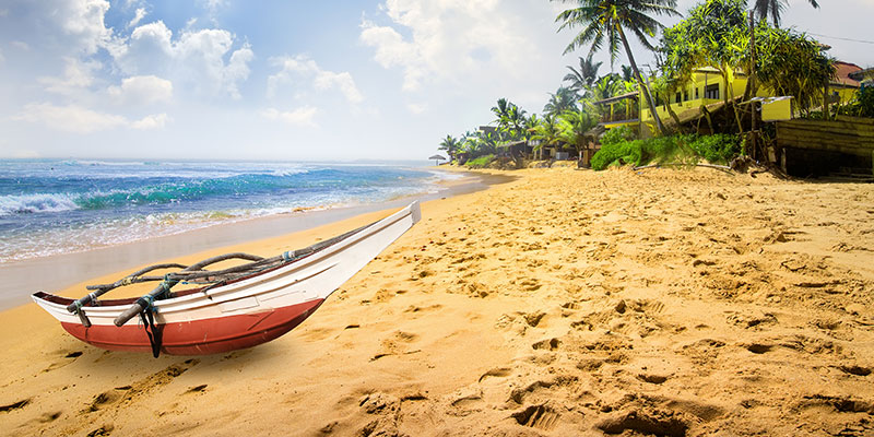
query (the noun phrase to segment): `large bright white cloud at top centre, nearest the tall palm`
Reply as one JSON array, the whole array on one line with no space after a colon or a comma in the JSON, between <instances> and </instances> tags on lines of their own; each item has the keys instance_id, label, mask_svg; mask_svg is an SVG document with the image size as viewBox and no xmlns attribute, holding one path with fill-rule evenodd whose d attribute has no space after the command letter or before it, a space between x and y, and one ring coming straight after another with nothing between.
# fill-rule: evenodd
<instances>
[{"instance_id":1,"label":"large bright white cloud at top centre, nearest the tall palm","mask_svg":"<svg viewBox=\"0 0 874 437\"><path fill-rule=\"evenodd\" d=\"M426 80L461 81L472 72L512 75L538 58L536 45L520 32L531 25L518 10L522 7L498 0L387 0L381 10L391 25L363 20L359 39L375 49L377 63L403 72L404 91L420 90Z\"/></svg>"}]
</instances>

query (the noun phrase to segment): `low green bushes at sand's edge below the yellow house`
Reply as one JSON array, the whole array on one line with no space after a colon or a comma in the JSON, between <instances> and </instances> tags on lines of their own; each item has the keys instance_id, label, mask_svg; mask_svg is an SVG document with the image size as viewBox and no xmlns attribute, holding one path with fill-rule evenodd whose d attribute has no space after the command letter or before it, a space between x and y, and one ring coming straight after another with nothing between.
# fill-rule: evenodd
<instances>
[{"instance_id":1,"label":"low green bushes at sand's edge below the yellow house","mask_svg":"<svg viewBox=\"0 0 874 437\"><path fill-rule=\"evenodd\" d=\"M617 128L601 139L601 150L592 157L592 168L602 170L623 164L695 164L701 158L712 164L728 164L740 152L736 135L681 134L635 140L629 129Z\"/></svg>"}]
</instances>

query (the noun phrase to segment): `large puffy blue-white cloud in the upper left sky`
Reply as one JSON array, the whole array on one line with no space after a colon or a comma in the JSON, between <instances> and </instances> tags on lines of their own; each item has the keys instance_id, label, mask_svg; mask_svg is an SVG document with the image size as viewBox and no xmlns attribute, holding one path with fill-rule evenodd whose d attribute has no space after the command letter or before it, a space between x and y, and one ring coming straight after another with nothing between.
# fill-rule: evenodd
<instances>
[{"instance_id":1,"label":"large puffy blue-white cloud in the upper left sky","mask_svg":"<svg viewBox=\"0 0 874 437\"><path fill-rule=\"evenodd\" d=\"M156 21L134 28L114 57L131 75L170 78L203 95L239 98L238 83L248 79L255 52L248 44L234 50L234 43L231 32L215 28L182 31L174 38L164 22Z\"/></svg>"}]
</instances>

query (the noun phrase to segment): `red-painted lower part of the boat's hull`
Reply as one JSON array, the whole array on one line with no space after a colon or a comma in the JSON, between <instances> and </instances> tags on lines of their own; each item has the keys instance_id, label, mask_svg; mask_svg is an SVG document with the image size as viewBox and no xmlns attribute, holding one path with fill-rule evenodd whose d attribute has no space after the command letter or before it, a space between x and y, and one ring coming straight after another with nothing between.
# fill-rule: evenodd
<instances>
[{"instance_id":1,"label":"red-painted lower part of the boat's hull","mask_svg":"<svg viewBox=\"0 0 874 437\"><path fill-rule=\"evenodd\" d=\"M165 323L161 352L169 355L208 355L257 346L291 331L324 299L315 299L263 312ZM67 332L85 343L110 351L152 352L142 323L123 327L61 322Z\"/></svg>"}]
</instances>

